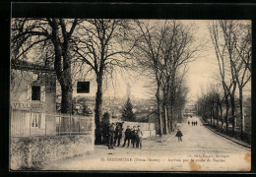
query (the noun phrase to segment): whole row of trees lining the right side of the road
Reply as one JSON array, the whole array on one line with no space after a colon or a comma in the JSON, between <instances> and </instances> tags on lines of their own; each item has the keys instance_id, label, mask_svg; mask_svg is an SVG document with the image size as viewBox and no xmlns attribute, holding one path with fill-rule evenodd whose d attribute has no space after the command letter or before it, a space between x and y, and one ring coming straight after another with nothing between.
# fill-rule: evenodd
<instances>
[{"instance_id":1,"label":"whole row of trees lining the right side of the road","mask_svg":"<svg viewBox=\"0 0 256 177\"><path fill-rule=\"evenodd\" d=\"M218 61L218 85L212 86L199 100L199 108L205 118L222 120L221 130L228 131L232 125L234 135L235 118L240 119L243 138L243 93L251 79L252 35L249 21L215 21L209 24L209 32ZM239 117L235 115L235 98L238 95ZM225 112L223 113L223 105ZM230 109L230 110L229 110ZM221 113L221 115L220 115ZM230 115L229 115L230 113ZM215 120L215 119L214 119ZM214 123L215 124L215 123Z\"/></svg>"}]
</instances>

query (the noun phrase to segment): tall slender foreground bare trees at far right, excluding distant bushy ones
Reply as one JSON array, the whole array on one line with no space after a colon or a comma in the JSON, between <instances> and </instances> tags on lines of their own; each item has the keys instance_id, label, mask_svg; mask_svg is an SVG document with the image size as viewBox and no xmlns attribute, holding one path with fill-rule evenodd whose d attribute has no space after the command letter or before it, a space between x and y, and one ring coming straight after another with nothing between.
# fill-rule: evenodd
<instances>
[{"instance_id":1,"label":"tall slender foreground bare trees at far right, excluding distant bushy ones","mask_svg":"<svg viewBox=\"0 0 256 177\"><path fill-rule=\"evenodd\" d=\"M239 91L241 139L243 135L243 88L251 79L251 25L241 21L214 22L209 31L216 50L226 104L231 103L232 134L235 127L235 90ZM228 78L228 75L230 76ZM226 77L227 76L227 77ZM228 78L228 79L226 79ZM229 84L228 81L229 80Z\"/></svg>"}]
</instances>

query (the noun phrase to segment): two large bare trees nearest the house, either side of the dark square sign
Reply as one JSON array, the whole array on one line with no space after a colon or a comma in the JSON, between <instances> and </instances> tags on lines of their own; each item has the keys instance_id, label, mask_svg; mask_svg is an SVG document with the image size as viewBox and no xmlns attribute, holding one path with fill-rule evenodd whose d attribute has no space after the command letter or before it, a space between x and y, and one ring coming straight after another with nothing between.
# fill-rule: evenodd
<instances>
[{"instance_id":1,"label":"two large bare trees nearest the house, either side of the dark square sign","mask_svg":"<svg viewBox=\"0 0 256 177\"><path fill-rule=\"evenodd\" d=\"M87 73L93 73L97 85L95 120L98 143L101 142L103 79L109 77L108 74L112 76L113 67L127 67L127 61L121 59L128 56L129 48L124 42L120 45L126 39L126 22L58 18L12 21L12 60L27 60L38 55L36 63L54 67L61 87L62 113L72 112L72 77L80 74L84 78ZM80 67L81 63L87 68Z\"/></svg>"}]
</instances>

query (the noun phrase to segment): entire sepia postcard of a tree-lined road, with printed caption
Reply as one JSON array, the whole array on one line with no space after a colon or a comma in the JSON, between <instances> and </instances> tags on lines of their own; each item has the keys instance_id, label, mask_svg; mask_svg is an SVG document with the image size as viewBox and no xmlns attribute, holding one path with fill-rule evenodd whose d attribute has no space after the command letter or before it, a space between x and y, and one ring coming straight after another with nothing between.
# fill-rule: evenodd
<instances>
[{"instance_id":1,"label":"entire sepia postcard of a tree-lined road, with printed caption","mask_svg":"<svg viewBox=\"0 0 256 177\"><path fill-rule=\"evenodd\" d=\"M251 170L252 21L12 18L11 171Z\"/></svg>"}]
</instances>

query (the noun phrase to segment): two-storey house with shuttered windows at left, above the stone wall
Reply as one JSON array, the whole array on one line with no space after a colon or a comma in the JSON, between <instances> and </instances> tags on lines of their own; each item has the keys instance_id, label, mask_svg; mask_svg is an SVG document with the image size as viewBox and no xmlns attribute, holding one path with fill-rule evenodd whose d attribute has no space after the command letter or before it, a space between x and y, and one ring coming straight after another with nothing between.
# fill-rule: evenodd
<instances>
[{"instance_id":1,"label":"two-storey house with shuttered windows at left, above the stone wall","mask_svg":"<svg viewBox=\"0 0 256 177\"><path fill-rule=\"evenodd\" d=\"M54 70L27 61L12 61L11 135L56 133L56 76Z\"/></svg>"}]
</instances>

